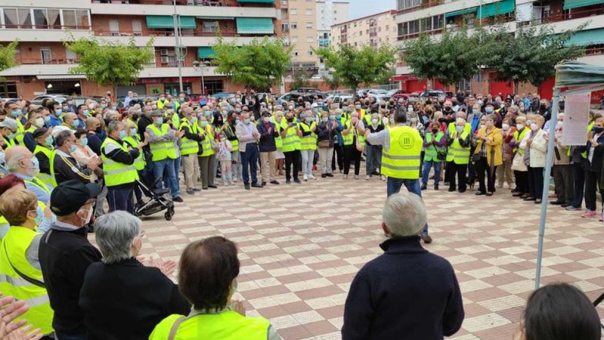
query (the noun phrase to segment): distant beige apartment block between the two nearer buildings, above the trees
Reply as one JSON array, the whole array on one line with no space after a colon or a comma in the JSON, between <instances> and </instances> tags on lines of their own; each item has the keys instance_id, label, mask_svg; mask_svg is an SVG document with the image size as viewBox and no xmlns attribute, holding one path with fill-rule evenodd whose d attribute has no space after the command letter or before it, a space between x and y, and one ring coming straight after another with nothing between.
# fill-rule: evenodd
<instances>
[{"instance_id":1,"label":"distant beige apartment block between the two nearer buildings, above the trees","mask_svg":"<svg viewBox=\"0 0 604 340\"><path fill-rule=\"evenodd\" d=\"M332 25L332 44L378 47L396 43L396 10L383 11Z\"/></svg>"}]
</instances>

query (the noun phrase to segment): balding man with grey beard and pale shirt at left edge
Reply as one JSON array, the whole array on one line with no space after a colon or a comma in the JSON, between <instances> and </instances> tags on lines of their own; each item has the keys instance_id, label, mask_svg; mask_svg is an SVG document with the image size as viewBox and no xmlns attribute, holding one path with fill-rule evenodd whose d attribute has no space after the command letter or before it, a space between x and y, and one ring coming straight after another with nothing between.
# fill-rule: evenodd
<instances>
[{"instance_id":1,"label":"balding man with grey beard and pale shirt at left edge","mask_svg":"<svg viewBox=\"0 0 604 340\"><path fill-rule=\"evenodd\" d=\"M31 151L25 146L14 146L6 151L5 168L25 182L25 188L30 189L37 196L37 200L48 202L52 188L37 178L40 164Z\"/></svg>"}]
</instances>

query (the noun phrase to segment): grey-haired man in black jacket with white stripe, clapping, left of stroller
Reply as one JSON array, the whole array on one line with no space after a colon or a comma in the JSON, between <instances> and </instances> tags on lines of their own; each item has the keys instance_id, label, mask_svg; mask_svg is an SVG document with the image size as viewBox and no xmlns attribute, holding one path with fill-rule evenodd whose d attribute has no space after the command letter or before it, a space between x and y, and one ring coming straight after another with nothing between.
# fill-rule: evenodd
<instances>
[{"instance_id":1,"label":"grey-haired man in black jacket with white stripe, clapping, left of stroller","mask_svg":"<svg viewBox=\"0 0 604 340\"><path fill-rule=\"evenodd\" d=\"M71 152L77 149L76 136L71 130L59 132L54 138L54 142L57 149L54 159L51 160L50 171L57 184L68 180L90 183L90 175L100 164L100 159L92 160L86 165L86 168L82 168L71 155Z\"/></svg>"}]
</instances>

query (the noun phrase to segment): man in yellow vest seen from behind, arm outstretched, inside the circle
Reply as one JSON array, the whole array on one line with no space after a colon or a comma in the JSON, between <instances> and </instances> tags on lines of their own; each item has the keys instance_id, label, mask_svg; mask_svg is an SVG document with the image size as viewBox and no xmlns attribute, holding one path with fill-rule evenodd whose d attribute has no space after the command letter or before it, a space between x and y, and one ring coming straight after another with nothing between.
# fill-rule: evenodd
<instances>
[{"instance_id":1,"label":"man in yellow vest seen from behind, arm outstretched, inside the circle","mask_svg":"<svg viewBox=\"0 0 604 340\"><path fill-rule=\"evenodd\" d=\"M408 191L422 197L419 168L423 139L419 131L408 126L406 121L406 114L398 112L394 114L396 126L373 134L370 129L365 129L365 139L371 145L383 147L381 174L388 177L387 196L396 194L400 187L405 185ZM432 242L432 237L428 235L428 223L423 227L420 236L424 243Z\"/></svg>"}]
</instances>

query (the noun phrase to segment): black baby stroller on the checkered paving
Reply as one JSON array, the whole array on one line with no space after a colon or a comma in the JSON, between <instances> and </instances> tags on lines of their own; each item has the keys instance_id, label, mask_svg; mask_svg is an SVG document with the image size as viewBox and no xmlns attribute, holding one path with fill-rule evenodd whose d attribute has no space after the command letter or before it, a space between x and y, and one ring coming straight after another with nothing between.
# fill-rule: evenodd
<instances>
[{"instance_id":1,"label":"black baby stroller on the checkered paving","mask_svg":"<svg viewBox=\"0 0 604 340\"><path fill-rule=\"evenodd\" d=\"M170 189L155 189L155 185L160 181L158 178L153 185L146 185L143 180L137 180L137 188L143 193L143 199L135 204L135 216L149 216L165 210L164 217L166 221L172 220L174 215L174 203L172 198L167 195Z\"/></svg>"}]
</instances>

